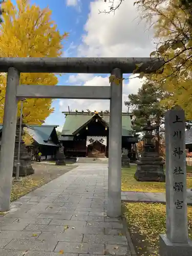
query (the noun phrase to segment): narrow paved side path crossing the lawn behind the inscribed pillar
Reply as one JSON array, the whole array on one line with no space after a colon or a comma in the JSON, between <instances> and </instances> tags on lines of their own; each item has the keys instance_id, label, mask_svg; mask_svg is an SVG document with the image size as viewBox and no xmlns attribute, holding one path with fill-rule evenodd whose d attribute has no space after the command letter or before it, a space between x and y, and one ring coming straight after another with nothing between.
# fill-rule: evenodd
<instances>
[{"instance_id":1,"label":"narrow paved side path crossing the lawn behind the inscribed pillar","mask_svg":"<svg viewBox=\"0 0 192 256\"><path fill-rule=\"evenodd\" d=\"M121 200L129 202L165 203L165 193L121 191ZM187 204L192 205L192 191L187 189Z\"/></svg>"}]
</instances>

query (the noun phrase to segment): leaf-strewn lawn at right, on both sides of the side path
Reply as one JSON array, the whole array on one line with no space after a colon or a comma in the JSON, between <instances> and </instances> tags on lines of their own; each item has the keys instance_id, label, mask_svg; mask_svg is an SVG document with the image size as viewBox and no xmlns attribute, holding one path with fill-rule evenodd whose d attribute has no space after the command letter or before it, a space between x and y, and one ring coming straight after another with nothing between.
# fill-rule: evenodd
<instances>
[{"instance_id":1,"label":"leaf-strewn lawn at right, on both sides of the side path","mask_svg":"<svg viewBox=\"0 0 192 256\"><path fill-rule=\"evenodd\" d=\"M136 165L122 169L122 190L165 192L163 182L139 182L134 179ZM187 187L192 187L192 167L187 166ZM192 239L192 206L188 206L188 232ZM123 203L123 211L139 256L158 256L159 234L166 230L166 209L160 203Z\"/></svg>"}]
</instances>

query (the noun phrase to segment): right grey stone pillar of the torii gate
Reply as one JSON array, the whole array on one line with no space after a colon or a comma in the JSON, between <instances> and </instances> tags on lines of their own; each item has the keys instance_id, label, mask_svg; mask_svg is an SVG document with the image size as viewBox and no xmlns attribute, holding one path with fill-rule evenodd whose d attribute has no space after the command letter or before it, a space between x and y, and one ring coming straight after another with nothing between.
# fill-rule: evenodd
<instances>
[{"instance_id":1,"label":"right grey stone pillar of the torii gate","mask_svg":"<svg viewBox=\"0 0 192 256\"><path fill-rule=\"evenodd\" d=\"M122 78L120 69L111 73ZM122 81L111 83L109 168L108 168L108 208L109 217L121 215L121 133L122 133Z\"/></svg>"}]
</instances>

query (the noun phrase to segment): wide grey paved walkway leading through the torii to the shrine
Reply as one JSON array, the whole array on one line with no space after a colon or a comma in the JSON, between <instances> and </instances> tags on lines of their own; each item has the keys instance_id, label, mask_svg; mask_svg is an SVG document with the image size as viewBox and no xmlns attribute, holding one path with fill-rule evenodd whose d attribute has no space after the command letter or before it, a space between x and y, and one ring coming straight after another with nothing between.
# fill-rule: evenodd
<instances>
[{"instance_id":1,"label":"wide grey paved walkway leading through the torii to the shrine","mask_svg":"<svg viewBox=\"0 0 192 256\"><path fill-rule=\"evenodd\" d=\"M106 164L79 165L0 217L0 255L131 255L121 221L106 217L106 197Z\"/></svg>"}]
</instances>

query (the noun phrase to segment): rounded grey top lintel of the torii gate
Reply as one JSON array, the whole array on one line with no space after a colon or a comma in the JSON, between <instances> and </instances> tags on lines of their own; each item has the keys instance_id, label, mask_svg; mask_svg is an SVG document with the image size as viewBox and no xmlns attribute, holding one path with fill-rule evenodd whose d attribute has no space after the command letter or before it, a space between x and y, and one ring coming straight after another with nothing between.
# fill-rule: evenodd
<instances>
[{"instance_id":1,"label":"rounded grey top lintel of the torii gate","mask_svg":"<svg viewBox=\"0 0 192 256\"><path fill-rule=\"evenodd\" d=\"M95 73L109 74L118 68L124 74L133 73L136 65L142 63L137 73L153 73L163 65L159 58L0 58L0 72L15 68L23 73Z\"/></svg>"}]
</instances>

